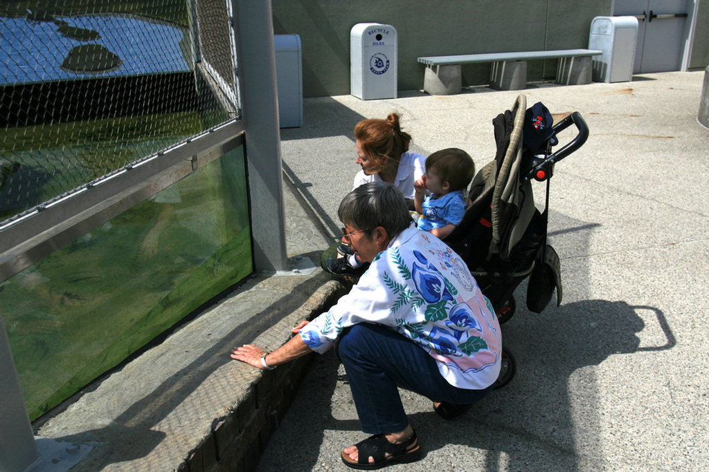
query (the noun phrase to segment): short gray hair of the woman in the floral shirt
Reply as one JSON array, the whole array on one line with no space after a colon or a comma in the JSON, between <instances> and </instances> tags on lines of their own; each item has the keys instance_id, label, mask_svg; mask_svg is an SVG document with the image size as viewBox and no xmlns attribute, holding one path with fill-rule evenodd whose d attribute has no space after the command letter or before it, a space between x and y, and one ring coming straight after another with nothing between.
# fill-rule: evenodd
<instances>
[{"instance_id":1,"label":"short gray hair of the woman in the floral shirt","mask_svg":"<svg viewBox=\"0 0 709 472\"><path fill-rule=\"evenodd\" d=\"M355 229L366 229L367 236L382 226L390 239L396 238L412 221L401 190L385 182L365 183L345 195L337 217Z\"/></svg>"}]
</instances>

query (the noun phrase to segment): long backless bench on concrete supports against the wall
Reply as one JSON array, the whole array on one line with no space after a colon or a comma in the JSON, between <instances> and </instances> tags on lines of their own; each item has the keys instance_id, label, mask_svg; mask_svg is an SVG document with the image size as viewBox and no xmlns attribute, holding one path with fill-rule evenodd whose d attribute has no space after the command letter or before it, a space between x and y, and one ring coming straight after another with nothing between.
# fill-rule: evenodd
<instances>
[{"instance_id":1,"label":"long backless bench on concrete supports against the wall","mask_svg":"<svg viewBox=\"0 0 709 472\"><path fill-rule=\"evenodd\" d=\"M461 64L492 62L490 86L498 90L520 90L527 86L527 60L561 59L557 67L557 84L579 85L591 82L591 57L602 51L569 49L554 51L491 52L455 56L419 57L426 64L423 89L431 95L460 93Z\"/></svg>"}]
</instances>

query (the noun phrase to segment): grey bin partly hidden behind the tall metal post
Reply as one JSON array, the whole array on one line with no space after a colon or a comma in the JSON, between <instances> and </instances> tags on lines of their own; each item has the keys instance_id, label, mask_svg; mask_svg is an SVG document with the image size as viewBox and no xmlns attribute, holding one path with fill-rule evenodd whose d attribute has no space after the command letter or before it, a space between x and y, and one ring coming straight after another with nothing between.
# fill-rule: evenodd
<instances>
[{"instance_id":1,"label":"grey bin partly hidden behind the tall metal post","mask_svg":"<svg viewBox=\"0 0 709 472\"><path fill-rule=\"evenodd\" d=\"M301 37L274 35L276 84L281 128L303 126L303 59Z\"/></svg>"}]
</instances>

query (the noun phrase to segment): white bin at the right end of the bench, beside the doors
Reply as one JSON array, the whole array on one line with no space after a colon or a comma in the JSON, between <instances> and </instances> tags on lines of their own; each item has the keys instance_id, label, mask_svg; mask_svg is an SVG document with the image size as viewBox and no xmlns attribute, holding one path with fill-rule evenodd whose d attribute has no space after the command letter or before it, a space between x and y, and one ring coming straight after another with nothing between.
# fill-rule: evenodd
<instances>
[{"instance_id":1,"label":"white bin at the right end of the bench, beside the doors","mask_svg":"<svg viewBox=\"0 0 709 472\"><path fill-rule=\"evenodd\" d=\"M635 16L596 16L591 21L588 49L603 51L593 56L593 80L627 82L632 79L637 45Z\"/></svg>"}]
</instances>

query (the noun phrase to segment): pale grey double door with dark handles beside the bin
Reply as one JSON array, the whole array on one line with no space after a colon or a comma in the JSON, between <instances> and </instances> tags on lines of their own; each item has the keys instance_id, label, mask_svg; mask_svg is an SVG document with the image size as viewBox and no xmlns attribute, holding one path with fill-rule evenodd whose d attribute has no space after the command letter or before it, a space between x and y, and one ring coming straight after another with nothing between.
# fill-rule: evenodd
<instances>
[{"instance_id":1,"label":"pale grey double door with dark handles beside the bin","mask_svg":"<svg viewBox=\"0 0 709 472\"><path fill-rule=\"evenodd\" d=\"M638 20L633 74L679 71L691 1L615 0L614 4L614 16Z\"/></svg>"}]
</instances>

